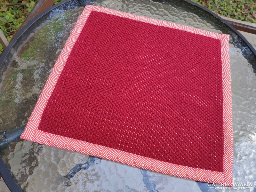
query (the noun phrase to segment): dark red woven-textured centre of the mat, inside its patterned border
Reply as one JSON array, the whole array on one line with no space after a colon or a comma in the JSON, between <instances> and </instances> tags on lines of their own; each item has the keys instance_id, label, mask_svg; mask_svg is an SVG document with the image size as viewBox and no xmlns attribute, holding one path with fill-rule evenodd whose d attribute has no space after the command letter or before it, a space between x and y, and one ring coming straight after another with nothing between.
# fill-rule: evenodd
<instances>
[{"instance_id":1,"label":"dark red woven-textured centre of the mat, inside its patterned border","mask_svg":"<svg viewBox=\"0 0 256 192\"><path fill-rule=\"evenodd\" d=\"M92 11L39 130L223 172L220 40Z\"/></svg>"}]
</instances>

